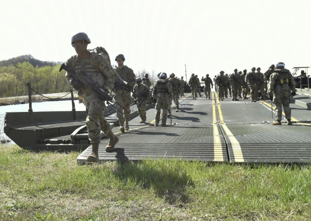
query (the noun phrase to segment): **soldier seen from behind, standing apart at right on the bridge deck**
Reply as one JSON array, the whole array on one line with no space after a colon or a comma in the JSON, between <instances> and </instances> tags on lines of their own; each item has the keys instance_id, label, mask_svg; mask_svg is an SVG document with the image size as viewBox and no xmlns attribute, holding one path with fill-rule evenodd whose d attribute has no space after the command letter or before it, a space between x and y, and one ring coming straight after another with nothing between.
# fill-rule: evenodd
<instances>
[{"instance_id":1,"label":"soldier seen from behind, standing apart at right on the bridge deck","mask_svg":"<svg viewBox=\"0 0 311 221\"><path fill-rule=\"evenodd\" d=\"M285 118L287 119L287 125L292 125L291 122L291 91L292 95L296 95L295 81L291 72L284 68L285 64L279 62L276 64L276 69L270 77L268 86L268 93L270 100L273 99L273 103L276 105L276 121L272 125L281 125L282 119L282 105L284 108Z\"/></svg>"}]
</instances>

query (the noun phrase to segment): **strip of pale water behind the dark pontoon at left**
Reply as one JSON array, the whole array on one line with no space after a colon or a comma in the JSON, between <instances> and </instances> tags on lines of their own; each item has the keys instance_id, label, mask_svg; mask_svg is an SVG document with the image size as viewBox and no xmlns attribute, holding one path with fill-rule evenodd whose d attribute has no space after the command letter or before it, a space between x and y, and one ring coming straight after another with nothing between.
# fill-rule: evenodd
<instances>
[{"instance_id":1,"label":"strip of pale water behind the dark pontoon at left","mask_svg":"<svg viewBox=\"0 0 311 221\"><path fill-rule=\"evenodd\" d=\"M78 100L74 100L76 111L85 111L84 104L79 104ZM71 111L71 100L47 101L32 103L33 112L39 111ZM10 140L4 133L4 117L6 112L27 112L29 104L16 104L0 106L0 141Z\"/></svg>"}]
</instances>

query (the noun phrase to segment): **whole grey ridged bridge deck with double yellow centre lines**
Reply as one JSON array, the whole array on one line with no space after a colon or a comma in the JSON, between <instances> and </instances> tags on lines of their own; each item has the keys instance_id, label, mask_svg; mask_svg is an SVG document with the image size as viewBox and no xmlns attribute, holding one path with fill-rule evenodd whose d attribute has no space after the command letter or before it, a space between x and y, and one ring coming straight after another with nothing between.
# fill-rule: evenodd
<instances>
[{"instance_id":1,"label":"whole grey ridged bridge deck with double yellow centre lines","mask_svg":"<svg viewBox=\"0 0 311 221\"><path fill-rule=\"evenodd\" d=\"M105 152L108 140L102 140L100 161L178 158L228 162L311 162L310 110L291 104L293 126L273 126L270 101L218 101L205 96L193 100L180 98L180 112L172 111L168 127L155 127L155 108L147 111L147 122L130 121L130 130L119 133L120 140L112 152ZM134 109L135 111L135 109ZM274 114L273 114L274 115ZM112 116L113 117L113 116ZM172 126L171 126L172 122ZM283 121L285 122L285 121ZM86 163L88 147L78 158Z\"/></svg>"}]
</instances>

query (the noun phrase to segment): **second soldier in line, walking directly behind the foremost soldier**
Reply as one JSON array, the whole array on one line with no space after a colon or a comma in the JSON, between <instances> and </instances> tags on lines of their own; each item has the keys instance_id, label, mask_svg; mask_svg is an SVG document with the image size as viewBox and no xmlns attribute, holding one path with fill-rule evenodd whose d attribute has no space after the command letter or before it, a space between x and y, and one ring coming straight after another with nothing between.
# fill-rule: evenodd
<instances>
[{"instance_id":1,"label":"second soldier in line, walking directly behind the foremost soldier","mask_svg":"<svg viewBox=\"0 0 311 221\"><path fill-rule=\"evenodd\" d=\"M116 56L115 61L118 63L118 67L116 67L116 71L120 75L120 77L127 82L131 88L135 85L135 74L133 70L126 65L124 65L125 57L122 54ZM120 132L124 132L125 130L129 130L129 120L130 120L130 105L132 104L132 96L131 90L126 90L124 87L116 85L114 93L116 94L117 100L126 107L126 110L123 112L117 111L117 117L120 123ZM120 106L119 106L120 108ZM125 118L125 119L124 119ZM125 128L124 128L124 120L125 120Z\"/></svg>"}]
</instances>

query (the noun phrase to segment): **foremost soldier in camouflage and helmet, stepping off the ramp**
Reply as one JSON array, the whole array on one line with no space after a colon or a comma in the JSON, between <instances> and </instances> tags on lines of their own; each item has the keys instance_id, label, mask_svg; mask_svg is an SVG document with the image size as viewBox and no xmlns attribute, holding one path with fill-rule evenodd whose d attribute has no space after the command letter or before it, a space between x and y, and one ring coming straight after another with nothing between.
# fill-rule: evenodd
<instances>
[{"instance_id":1,"label":"foremost soldier in camouflage and helmet, stepping off the ramp","mask_svg":"<svg viewBox=\"0 0 311 221\"><path fill-rule=\"evenodd\" d=\"M84 32L79 32L73 35L71 38L71 45L74 47L77 55L69 58L67 65L72 70L81 72L87 78L98 83L98 85L108 93L108 90L113 88L115 81L114 70L107 57L87 50L87 45L90 43L90 39ZM92 152L86 160L88 162L97 162L98 147L101 142L101 130L109 137L109 143L105 147L106 151L112 151L115 148L116 143L119 141L119 138L113 134L110 124L104 118L104 100L102 100L102 98L90 87L83 85L69 73L66 73L66 77L73 88L78 91L78 95L83 98L83 102L86 105L86 127L88 131L88 139L92 145Z\"/></svg>"}]
</instances>

